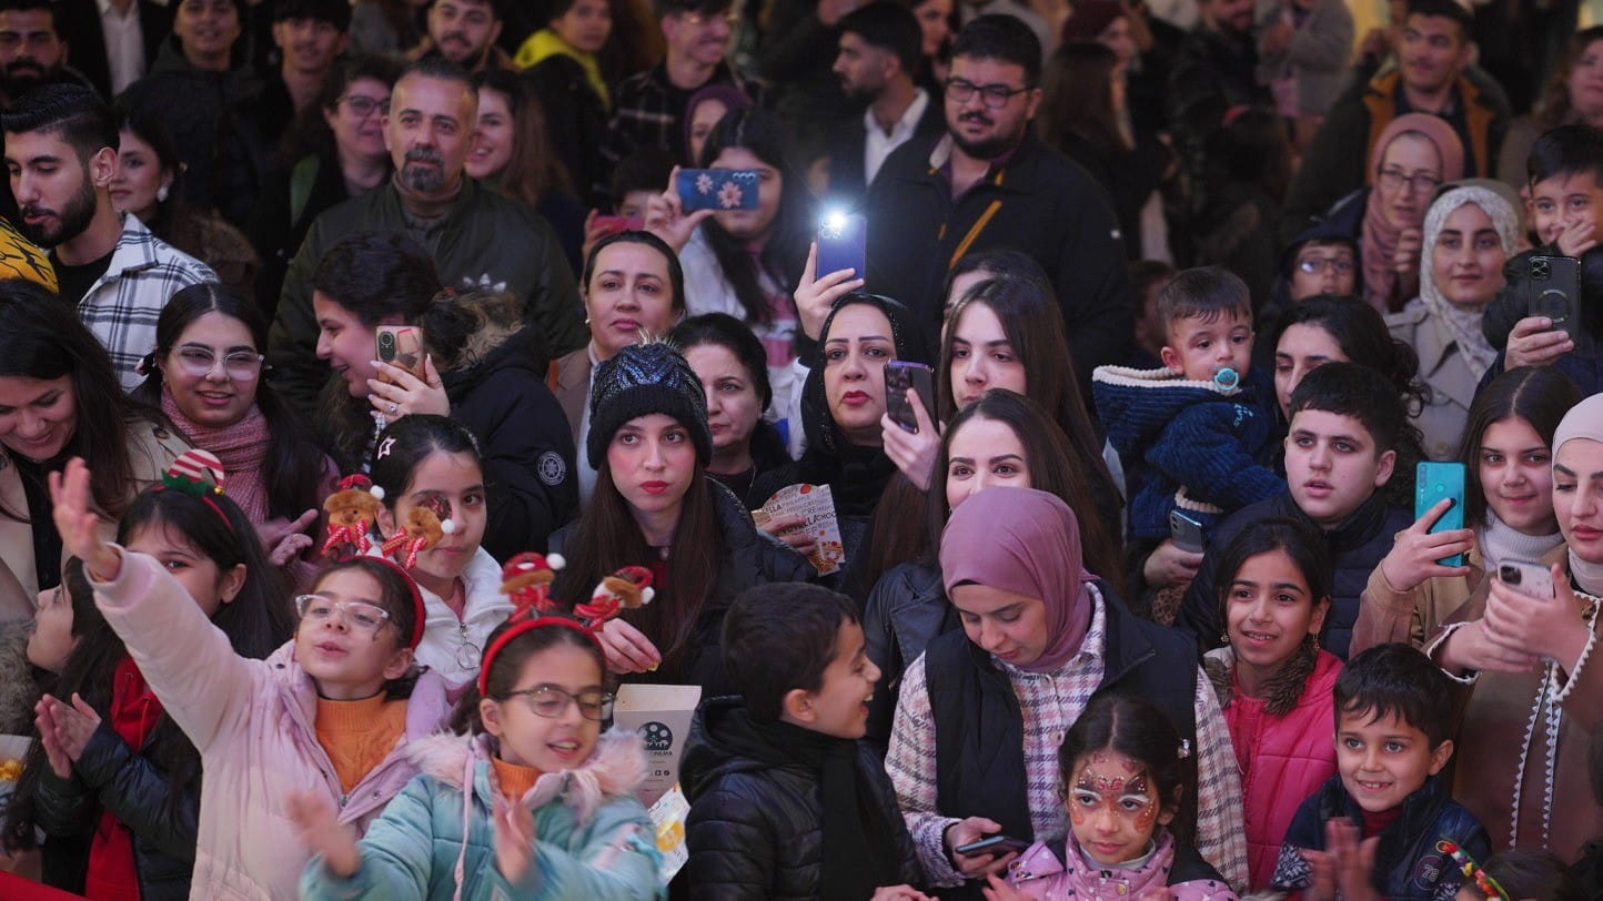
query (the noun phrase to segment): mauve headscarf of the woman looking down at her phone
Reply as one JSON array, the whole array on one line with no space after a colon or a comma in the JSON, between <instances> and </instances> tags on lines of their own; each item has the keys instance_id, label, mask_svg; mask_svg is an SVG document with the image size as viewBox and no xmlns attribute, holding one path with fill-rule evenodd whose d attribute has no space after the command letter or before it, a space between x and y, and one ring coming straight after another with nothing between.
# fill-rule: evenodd
<instances>
[{"instance_id":1,"label":"mauve headscarf of the woman looking down at her phone","mask_svg":"<svg viewBox=\"0 0 1603 901\"><path fill-rule=\"evenodd\" d=\"M1090 625L1092 596L1080 552L1080 526L1058 495L994 487L952 511L941 532L946 595L965 582L1047 604L1047 649L1021 665L1032 673L1063 669Z\"/></svg>"}]
</instances>

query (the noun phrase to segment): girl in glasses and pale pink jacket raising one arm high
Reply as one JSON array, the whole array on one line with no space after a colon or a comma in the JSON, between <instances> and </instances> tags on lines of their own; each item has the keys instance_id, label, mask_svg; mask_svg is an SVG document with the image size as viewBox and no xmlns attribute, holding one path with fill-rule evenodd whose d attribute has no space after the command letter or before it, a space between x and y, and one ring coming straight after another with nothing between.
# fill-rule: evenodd
<instances>
[{"instance_id":1,"label":"girl in glasses and pale pink jacket raising one arm high","mask_svg":"<svg viewBox=\"0 0 1603 901\"><path fill-rule=\"evenodd\" d=\"M410 744L444 726L446 683L412 662L425 616L417 585L388 560L330 563L297 600L293 638L266 661L247 659L184 588L181 556L101 539L88 486L79 459L50 478L63 545L83 560L106 622L200 752L191 896L298 898L308 851L289 838L292 794L365 829L417 773Z\"/></svg>"}]
</instances>

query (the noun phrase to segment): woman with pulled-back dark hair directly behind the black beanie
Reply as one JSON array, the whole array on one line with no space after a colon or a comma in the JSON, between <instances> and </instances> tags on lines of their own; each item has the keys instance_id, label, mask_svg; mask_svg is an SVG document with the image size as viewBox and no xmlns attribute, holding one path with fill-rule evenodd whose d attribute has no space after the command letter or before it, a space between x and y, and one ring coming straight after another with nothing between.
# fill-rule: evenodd
<instances>
[{"instance_id":1,"label":"woman with pulled-back dark hair directly behind the black beanie","mask_svg":"<svg viewBox=\"0 0 1603 901\"><path fill-rule=\"evenodd\" d=\"M590 343L553 366L550 388L567 414L574 444L590 434L592 390L596 369L630 345L660 338L684 316L684 269L660 237L625 231L590 248L580 281ZM595 465L577 459L579 499L590 502Z\"/></svg>"}]
</instances>

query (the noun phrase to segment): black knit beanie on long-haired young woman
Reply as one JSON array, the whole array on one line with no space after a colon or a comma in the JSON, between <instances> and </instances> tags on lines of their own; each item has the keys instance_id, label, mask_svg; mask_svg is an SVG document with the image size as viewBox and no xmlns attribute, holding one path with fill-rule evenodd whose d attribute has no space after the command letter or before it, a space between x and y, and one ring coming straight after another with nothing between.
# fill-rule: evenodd
<instances>
[{"instance_id":1,"label":"black knit beanie on long-haired young woman","mask_svg":"<svg viewBox=\"0 0 1603 901\"><path fill-rule=\"evenodd\" d=\"M612 436L624 423L649 414L665 414L691 433L696 459L712 462L712 430L707 426L707 391L691 364L672 345L630 345L596 367L590 385L590 436L585 455L600 470Z\"/></svg>"}]
</instances>

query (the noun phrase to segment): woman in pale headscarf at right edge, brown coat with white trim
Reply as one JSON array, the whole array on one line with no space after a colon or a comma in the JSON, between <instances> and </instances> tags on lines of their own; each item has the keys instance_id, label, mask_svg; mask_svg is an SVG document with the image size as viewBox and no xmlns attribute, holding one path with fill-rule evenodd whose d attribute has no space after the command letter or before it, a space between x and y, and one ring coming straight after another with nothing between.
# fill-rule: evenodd
<instances>
[{"instance_id":1,"label":"woman in pale headscarf at right edge, brown coat with white trim","mask_svg":"<svg viewBox=\"0 0 1603 901\"><path fill-rule=\"evenodd\" d=\"M1492 848L1544 846L1571 861L1603 834L1589 766L1603 721L1603 394L1553 433L1553 513L1565 543L1540 558L1552 593L1499 571L1425 651L1470 691L1452 797Z\"/></svg>"}]
</instances>

